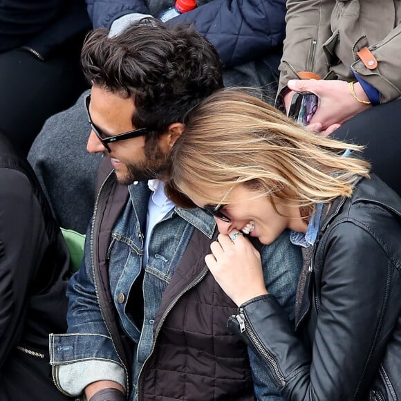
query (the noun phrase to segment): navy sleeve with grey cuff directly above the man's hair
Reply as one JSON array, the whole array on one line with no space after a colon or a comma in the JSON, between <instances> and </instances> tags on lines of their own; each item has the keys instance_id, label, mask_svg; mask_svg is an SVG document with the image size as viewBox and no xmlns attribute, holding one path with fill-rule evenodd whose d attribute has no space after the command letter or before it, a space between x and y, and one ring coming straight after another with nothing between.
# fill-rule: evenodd
<instances>
[{"instance_id":1,"label":"navy sleeve with grey cuff directly above the man's hair","mask_svg":"<svg viewBox=\"0 0 401 401\"><path fill-rule=\"evenodd\" d=\"M93 28L110 28L115 19L138 12L149 14L143 0L86 0Z\"/></svg>"}]
</instances>

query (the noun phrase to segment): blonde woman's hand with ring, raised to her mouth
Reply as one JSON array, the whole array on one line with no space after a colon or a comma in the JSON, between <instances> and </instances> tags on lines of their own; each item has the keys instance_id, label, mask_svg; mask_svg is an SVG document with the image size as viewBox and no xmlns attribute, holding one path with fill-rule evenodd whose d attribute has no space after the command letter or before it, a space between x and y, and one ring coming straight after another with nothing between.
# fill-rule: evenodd
<instances>
[{"instance_id":1,"label":"blonde woman's hand with ring, raised to her mouth","mask_svg":"<svg viewBox=\"0 0 401 401\"><path fill-rule=\"evenodd\" d=\"M235 232L231 232L232 236ZM207 267L223 291L240 306L259 295L265 295L261 256L242 233L232 241L219 234L210 245L212 254L205 257Z\"/></svg>"}]
</instances>

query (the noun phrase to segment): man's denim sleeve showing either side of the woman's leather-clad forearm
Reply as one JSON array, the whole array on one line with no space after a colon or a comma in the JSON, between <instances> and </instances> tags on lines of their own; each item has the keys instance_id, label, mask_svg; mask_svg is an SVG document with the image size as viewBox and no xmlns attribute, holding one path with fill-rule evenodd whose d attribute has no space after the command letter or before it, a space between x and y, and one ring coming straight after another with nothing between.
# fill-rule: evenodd
<instances>
[{"instance_id":1,"label":"man's denim sleeve showing either side of the woman's leather-clad forearm","mask_svg":"<svg viewBox=\"0 0 401 401\"><path fill-rule=\"evenodd\" d=\"M261 250L263 275L268 292L276 297L279 304L293 319L295 293L299 273L302 267L301 249L290 242L290 233L283 232L271 245L265 245ZM258 401L283 401L268 375L265 364L248 348L254 393Z\"/></svg>"}]
</instances>

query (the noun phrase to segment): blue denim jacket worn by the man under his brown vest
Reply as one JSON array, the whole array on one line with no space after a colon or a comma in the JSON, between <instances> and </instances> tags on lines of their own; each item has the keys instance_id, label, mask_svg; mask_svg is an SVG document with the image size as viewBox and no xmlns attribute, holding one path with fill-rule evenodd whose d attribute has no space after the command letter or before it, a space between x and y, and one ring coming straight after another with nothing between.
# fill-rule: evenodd
<instances>
[{"instance_id":1,"label":"blue denim jacket worn by the man under his brown vest","mask_svg":"<svg viewBox=\"0 0 401 401\"><path fill-rule=\"evenodd\" d=\"M111 174L109 180L115 179L113 176ZM130 305L135 301L131 298L133 292L136 292L131 290L136 286L136 278L142 271L143 233L149 194L147 182L135 182L129 186L129 201L122 207L122 213L111 231L106 261L100 262L100 269L107 269L109 274L109 290L104 290L103 283L97 280L94 270L96 263L93 260L93 254L96 254L93 249L98 243L97 237L94 237L95 225L98 220L107 217L99 204L104 203L104 197L108 196L100 190L93 221L86 236L84 262L68 284L68 333L50 335L53 378L64 393L80 395L92 382L113 380L131 393L131 400L136 399L138 375L154 349L153 327L162 294L194 230L200 230L208 239L214 235L215 222L201 209L176 207L156 224L151 233L149 260L144 269L141 329L138 319L132 315ZM297 247L290 244L288 237L286 232L274 244L264 246L261 256L268 290L292 314L301 255ZM107 316L110 305L116 312L114 318ZM113 324L120 327L123 337L131 340L128 353L133 355L132 361L124 361L124 352L119 351L124 346L119 348L116 344L117 336L111 333ZM281 399L273 395L277 395L277 390L263 374L263 366L252 353L250 362L258 399Z\"/></svg>"}]
</instances>

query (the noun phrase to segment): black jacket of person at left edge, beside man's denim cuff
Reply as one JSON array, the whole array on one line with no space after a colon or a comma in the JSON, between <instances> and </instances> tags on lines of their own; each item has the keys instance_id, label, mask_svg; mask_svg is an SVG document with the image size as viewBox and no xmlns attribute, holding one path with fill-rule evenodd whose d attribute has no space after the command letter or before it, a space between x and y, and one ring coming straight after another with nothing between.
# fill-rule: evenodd
<instances>
[{"instance_id":1,"label":"black jacket of person at left edge, beside man's denim cuff","mask_svg":"<svg viewBox=\"0 0 401 401\"><path fill-rule=\"evenodd\" d=\"M69 255L26 160L0 136L0 400L66 400L48 333L66 331Z\"/></svg>"}]
</instances>

